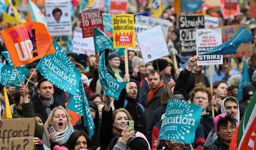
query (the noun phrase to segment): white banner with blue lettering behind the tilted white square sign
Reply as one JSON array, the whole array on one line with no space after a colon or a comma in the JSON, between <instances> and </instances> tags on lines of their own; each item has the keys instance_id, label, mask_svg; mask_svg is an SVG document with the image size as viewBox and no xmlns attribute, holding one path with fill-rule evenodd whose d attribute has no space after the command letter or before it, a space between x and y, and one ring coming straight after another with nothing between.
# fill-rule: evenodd
<instances>
[{"instance_id":1,"label":"white banner with blue lettering behind the tilted white square sign","mask_svg":"<svg viewBox=\"0 0 256 150\"><path fill-rule=\"evenodd\" d=\"M153 18L148 16L136 16L135 23L137 24L147 24L151 26L161 25L163 29L163 34L165 35L165 40L167 40L167 34L169 31L169 20L160 19L160 18Z\"/></svg>"}]
</instances>

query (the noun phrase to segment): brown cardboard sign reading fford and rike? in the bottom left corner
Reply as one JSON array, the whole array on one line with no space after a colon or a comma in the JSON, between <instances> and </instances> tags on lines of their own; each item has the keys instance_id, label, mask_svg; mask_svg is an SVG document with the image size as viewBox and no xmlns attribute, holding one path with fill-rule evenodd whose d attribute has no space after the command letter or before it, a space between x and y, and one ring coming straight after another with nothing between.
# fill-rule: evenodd
<instances>
[{"instance_id":1,"label":"brown cardboard sign reading fford and rike? in the bottom left corner","mask_svg":"<svg viewBox=\"0 0 256 150\"><path fill-rule=\"evenodd\" d=\"M35 118L0 120L1 150L33 150Z\"/></svg>"}]
</instances>

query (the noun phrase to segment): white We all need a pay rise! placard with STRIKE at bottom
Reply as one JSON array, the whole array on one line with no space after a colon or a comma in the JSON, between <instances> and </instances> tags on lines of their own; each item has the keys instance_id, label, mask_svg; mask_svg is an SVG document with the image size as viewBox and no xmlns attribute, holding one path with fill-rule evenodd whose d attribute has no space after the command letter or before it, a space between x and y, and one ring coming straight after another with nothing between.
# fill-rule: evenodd
<instances>
[{"instance_id":1,"label":"white We all need a pay rise! placard with STRIKE at bottom","mask_svg":"<svg viewBox=\"0 0 256 150\"><path fill-rule=\"evenodd\" d=\"M204 52L220 45L221 28L216 29L197 29L196 30L196 54L201 55ZM197 65L220 65L223 64L222 55L202 55L197 61Z\"/></svg>"}]
</instances>

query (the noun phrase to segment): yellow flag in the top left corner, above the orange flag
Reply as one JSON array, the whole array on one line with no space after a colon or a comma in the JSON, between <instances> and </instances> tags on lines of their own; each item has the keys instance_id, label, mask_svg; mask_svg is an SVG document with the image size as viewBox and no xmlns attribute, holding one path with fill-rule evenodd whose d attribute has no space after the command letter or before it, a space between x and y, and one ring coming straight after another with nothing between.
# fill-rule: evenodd
<instances>
[{"instance_id":1,"label":"yellow flag in the top left corner, above the orange flag","mask_svg":"<svg viewBox=\"0 0 256 150\"><path fill-rule=\"evenodd\" d=\"M12 5L10 0L5 0L6 10L3 14L3 21L6 23L24 23L26 20L22 18L17 9Z\"/></svg>"}]
</instances>

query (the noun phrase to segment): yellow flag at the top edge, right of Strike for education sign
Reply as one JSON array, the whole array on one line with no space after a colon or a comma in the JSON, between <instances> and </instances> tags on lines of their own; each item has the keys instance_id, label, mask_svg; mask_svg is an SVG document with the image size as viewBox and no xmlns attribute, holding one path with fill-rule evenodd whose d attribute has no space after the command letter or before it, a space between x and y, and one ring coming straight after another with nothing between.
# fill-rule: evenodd
<instances>
[{"instance_id":1,"label":"yellow flag at the top edge, right of Strike for education sign","mask_svg":"<svg viewBox=\"0 0 256 150\"><path fill-rule=\"evenodd\" d=\"M155 18L160 18L165 9L165 4L163 4L162 0L150 0L149 8Z\"/></svg>"}]
</instances>

